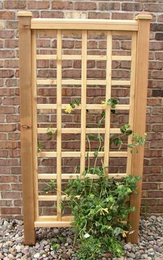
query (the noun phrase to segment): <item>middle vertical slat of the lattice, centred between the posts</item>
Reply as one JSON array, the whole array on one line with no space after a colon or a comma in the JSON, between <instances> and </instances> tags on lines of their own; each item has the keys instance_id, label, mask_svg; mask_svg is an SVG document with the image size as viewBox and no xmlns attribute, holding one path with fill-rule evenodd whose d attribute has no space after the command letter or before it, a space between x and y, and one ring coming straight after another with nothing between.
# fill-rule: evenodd
<instances>
[{"instance_id":1,"label":"middle vertical slat of the lattice, centred between the posts","mask_svg":"<svg viewBox=\"0 0 163 260\"><path fill-rule=\"evenodd\" d=\"M82 31L81 50L81 159L80 174L85 170L86 154L86 57L87 57L87 31Z\"/></svg>"}]
</instances>

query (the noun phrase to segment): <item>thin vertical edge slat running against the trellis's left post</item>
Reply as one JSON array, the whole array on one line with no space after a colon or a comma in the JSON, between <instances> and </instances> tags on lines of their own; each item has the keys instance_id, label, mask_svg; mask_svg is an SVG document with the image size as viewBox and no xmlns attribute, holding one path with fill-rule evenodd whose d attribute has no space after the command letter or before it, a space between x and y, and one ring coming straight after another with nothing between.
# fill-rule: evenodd
<instances>
[{"instance_id":1,"label":"thin vertical edge slat running against the trellis's left post","mask_svg":"<svg viewBox=\"0 0 163 260\"><path fill-rule=\"evenodd\" d=\"M33 136L33 174L35 195L35 221L39 219L38 172L37 172L37 46L36 30L32 30L32 136Z\"/></svg>"}]
</instances>

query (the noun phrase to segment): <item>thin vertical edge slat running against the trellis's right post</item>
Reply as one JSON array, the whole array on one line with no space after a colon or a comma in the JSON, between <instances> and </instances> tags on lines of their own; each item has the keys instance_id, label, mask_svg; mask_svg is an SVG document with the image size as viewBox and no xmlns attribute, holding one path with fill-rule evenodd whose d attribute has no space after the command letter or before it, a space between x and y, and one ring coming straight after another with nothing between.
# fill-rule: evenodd
<instances>
[{"instance_id":1,"label":"thin vertical edge slat running against the trellis's right post","mask_svg":"<svg viewBox=\"0 0 163 260\"><path fill-rule=\"evenodd\" d=\"M134 104L135 104L135 68L136 68L136 53L137 53L137 32L132 34L132 44L131 44L131 88L130 88L130 112L128 123L133 130L133 119L134 119ZM131 143L132 136L128 136L128 143ZM131 174L131 149L127 150L127 163L126 163L126 174Z\"/></svg>"}]
</instances>

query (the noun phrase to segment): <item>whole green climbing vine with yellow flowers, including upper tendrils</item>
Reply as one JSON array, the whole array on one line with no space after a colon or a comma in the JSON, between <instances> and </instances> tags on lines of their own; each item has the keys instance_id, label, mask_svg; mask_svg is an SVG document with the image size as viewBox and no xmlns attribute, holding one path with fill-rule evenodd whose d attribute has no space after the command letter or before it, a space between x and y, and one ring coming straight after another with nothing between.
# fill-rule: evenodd
<instances>
[{"instance_id":1,"label":"whole green climbing vine with yellow flowers, including upper tendrils","mask_svg":"<svg viewBox=\"0 0 163 260\"><path fill-rule=\"evenodd\" d=\"M70 105L66 106L65 112L70 113L80 105L79 99L75 99ZM117 105L116 99L108 99L102 101L103 111L101 119L97 122L97 128L102 125L105 119L106 108L110 108L115 114ZM133 133L129 124L125 124L120 128L121 134L111 134L110 143L117 146L118 149L128 148L133 152L138 152L137 146L142 146L146 141L146 134ZM52 126L47 130L47 134L52 138ZM124 143L124 136L130 136L130 142ZM90 166L90 141L95 140L98 143L94 154L94 166ZM68 186L63 194L66 195L65 203L70 207L74 221L72 223L75 230L75 239L79 242L79 250L77 256L80 260L100 259L102 254L111 253L113 257L124 255L122 248L122 238L127 234L134 232L131 224L127 221L128 214L135 210L130 206L130 195L137 191L136 183L140 177L122 177L117 180L114 178L108 179L106 168L101 159L101 166L97 166L99 152L104 152L104 139L102 135L88 134L86 135L88 142L88 166L82 172L81 178L69 179ZM38 152L44 144L38 143ZM94 178L95 177L95 178ZM45 192L57 190L55 181L50 180L46 183Z\"/></svg>"}]
</instances>

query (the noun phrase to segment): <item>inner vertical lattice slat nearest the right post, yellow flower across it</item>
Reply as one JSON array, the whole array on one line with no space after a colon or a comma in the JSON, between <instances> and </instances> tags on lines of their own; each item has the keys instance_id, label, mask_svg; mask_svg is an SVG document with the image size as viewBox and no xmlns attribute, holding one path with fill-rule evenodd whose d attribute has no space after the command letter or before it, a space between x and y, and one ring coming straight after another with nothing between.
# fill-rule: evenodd
<instances>
[{"instance_id":1,"label":"inner vertical lattice slat nearest the right post, yellow flower across it","mask_svg":"<svg viewBox=\"0 0 163 260\"><path fill-rule=\"evenodd\" d=\"M107 32L106 43L106 102L111 99L111 67L112 67L112 32ZM111 108L106 107L105 116L105 139L104 139L104 166L108 167L108 154L110 143L110 123L111 123ZM105 168L105 173L108 174L108 168Z\"/></svg>"}]
</instances>

